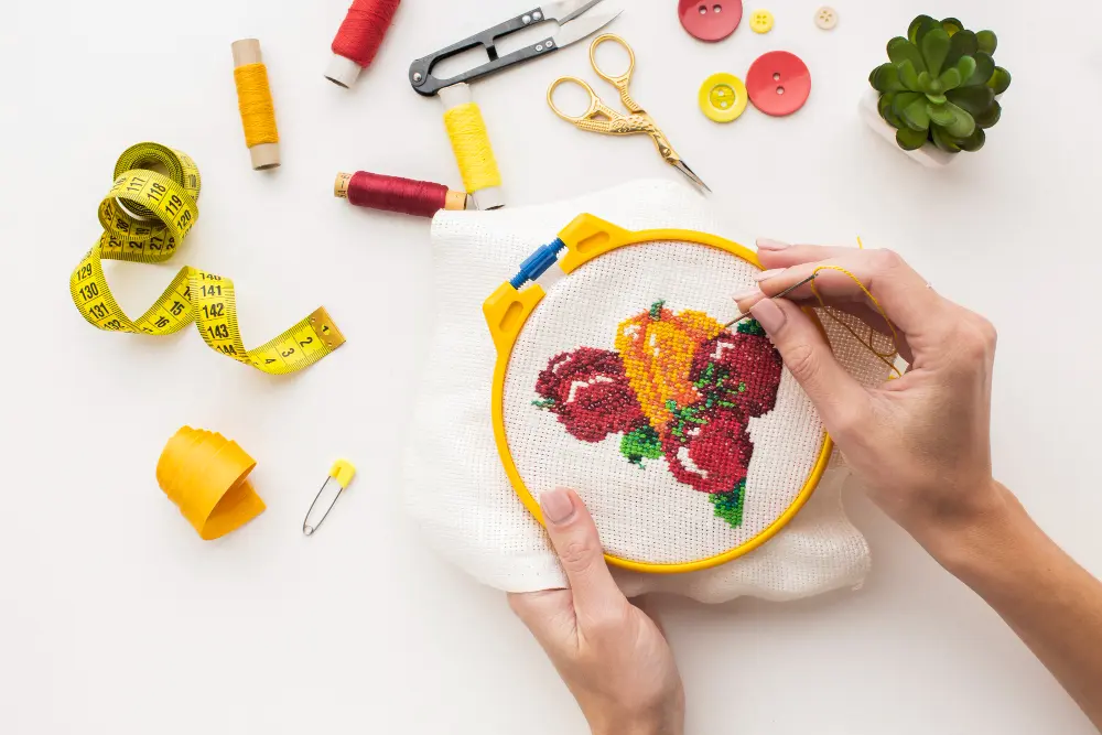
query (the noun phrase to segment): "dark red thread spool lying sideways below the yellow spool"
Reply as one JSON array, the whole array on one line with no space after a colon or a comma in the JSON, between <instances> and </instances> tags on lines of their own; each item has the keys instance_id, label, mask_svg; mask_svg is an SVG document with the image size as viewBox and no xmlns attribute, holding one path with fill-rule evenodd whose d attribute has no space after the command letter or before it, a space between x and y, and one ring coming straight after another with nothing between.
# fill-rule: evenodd
<instances>
[{"instance_id":1,"label":"dark red thread spool lying sideways below the yellow spool","mask_svg":"<svg viewBox=\"0 0 1102 735\"><path fill-rule=\"evenodd\" d=\"M337 174L333 185L337 198L368 209L432 217L441 209L466 209L467 195L443 184L357 171Z\"/></svg>"}]
</instances>

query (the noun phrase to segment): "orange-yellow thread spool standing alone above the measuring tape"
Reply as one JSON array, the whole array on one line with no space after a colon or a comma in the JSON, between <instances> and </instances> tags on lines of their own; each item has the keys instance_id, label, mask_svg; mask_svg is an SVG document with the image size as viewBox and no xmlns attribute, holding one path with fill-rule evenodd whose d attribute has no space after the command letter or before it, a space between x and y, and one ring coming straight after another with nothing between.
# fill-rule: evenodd
<instances>
[{"instance_id":1,"label":"orange-yellow thread spool standing alone above the measuring tape","mask_svg":"<svg viewBox=\"0 0 1102 735\"><path fill-rule=\"evenodd\" d=\"M260 42L242 39L235 41L231 48L237 106L241 111L245 143L252 156L252 169L276 169L279 166L279 131L276 129L276 106L268 85L268 67L260 55Z\"/></svg>"}]
</instances>

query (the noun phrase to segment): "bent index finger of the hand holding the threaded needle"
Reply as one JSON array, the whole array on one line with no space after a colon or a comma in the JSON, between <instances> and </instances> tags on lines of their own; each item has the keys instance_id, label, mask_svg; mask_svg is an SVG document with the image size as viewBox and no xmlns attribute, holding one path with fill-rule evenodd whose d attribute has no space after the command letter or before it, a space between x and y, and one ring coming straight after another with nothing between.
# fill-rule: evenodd
<instances>
[{"instance_id":1,"label":"bent index finger of the hand holding the threaded needle","mask_svg":"<svg viewBox=\"0 0 1102 735\"><path fill-rule=\"evenodd\" d=\"M861 284L836 270L819 270L822 267L844 268ZM773 296L817 270L814 285L824 301L863 301L866 296L861 285L864 285L880 303L888 318L906 334L927 333L931 327L943 326L948 320L948 302L890 250L852 250L827 261L765 271L758 274L758 285L767 296ZM811 285L797 289L791 296L795 300L813 298Z\"/></svg>"}]
</instances>

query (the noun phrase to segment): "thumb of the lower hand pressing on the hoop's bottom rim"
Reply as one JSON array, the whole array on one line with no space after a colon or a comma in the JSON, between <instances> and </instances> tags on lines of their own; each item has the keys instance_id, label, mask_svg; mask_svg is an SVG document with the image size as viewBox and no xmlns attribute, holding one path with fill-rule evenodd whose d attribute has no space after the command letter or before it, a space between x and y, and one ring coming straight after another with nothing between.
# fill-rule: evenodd
<instances>
[{"instance_id":1,"label":"thumb of the lower hand pressing on the hoop's bottom rim","mask_svg":"<svg viewBox=\"0 0 1102 735\"><path fill-rule=\"evenodd\" d=\"M548 536L573 592L580 616L605 605L626 603L605 563L597 527L574 490L555 489L540 496Z\"/></svg>"}]
</instances>

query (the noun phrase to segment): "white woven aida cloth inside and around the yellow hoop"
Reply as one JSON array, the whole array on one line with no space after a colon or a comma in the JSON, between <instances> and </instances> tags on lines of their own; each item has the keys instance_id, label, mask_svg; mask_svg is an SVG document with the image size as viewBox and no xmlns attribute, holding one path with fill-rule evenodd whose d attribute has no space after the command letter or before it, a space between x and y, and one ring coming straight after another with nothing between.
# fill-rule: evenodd
<instances>
[{"instance_id":1,"label":"white woven aida cloth inside and around the yellow hoop","mask_svg":"<svg viewBox=\"0 0 1102 735\"><path fill-rule=\"evenodd\" d=\"M542 528L517 498L498 457L490 423L496 354L482 305L516 273L525 258L538 246L551 241L583 212L628 229L676 227L725 234L704 199L688 187L669 182L639 182L576 201L523 209L442 212L433 221L435 331L420 382L404 463L406 505L426 543L480 582L503 591L562 587L565 577ZM615 270L634 272L640 282L647 283L648 290L663 291L656 294L656 301L665 299L667 303L660 309L671 315L687 309L705 310L716 318L734 315L730 295L749 282L749 266L738 264L739 261L719 251L679 244L678 247L687 248L679 267L685 270L680 277L663 279L642 267L648 248L670 247L673 246L633 246L619 251L624 255L595 260L571 277L548 284L544 305L560 299L581 302L582 298L564 298L568 292L561 290L595 288L586 287L585 282L599 280L597 275L605 267L598 269L598 266L606 260L612 263L613 259L628 258L636 259L638 268ZM713 261L722 261L722 268L712 268ZM592 278L584 272L587 269L593 269ZM698 275L700 281L691 282L689 277ZM641 287L636 283L633 288ZM602 529L611 553L650 561L682 561L739 545L770 515L776 517L777 508L787 507L791 494L799 490L796 486L802 485L810 468L808 463L813 462L811 450L821 439L818 419L813 412L803 411L807 399L785 371L776 407L770 413L748 421L754 454L746 478L742 523L737 528L716 516L707 493L698 493L677 482L668 469L669 460L644 457L640 467L625 457L619 435L599 442L577 441L552 411L534 406L533 401L541 399L534 381L548 361L561 352L580 346L614 349L620 323L653 306L639 303L641 294L628 302L618 300L613 292L605 290L597 304L592 303L592 296L587 298L588 316L569 327L576 329L572 334L562 331L569 320L560 316L552 325L554 312L542 305L526 325L518 342L516 365L510 365L506 391L507 432L518 468L537 494L557 485L594 487L594 472L612 478L615 489L611 488L602 498L586 498L594 506L598 525L608 527L609 519L623 517L623 522L614 523L619 532ZM592 311L595 305L599 306L596 312ZM537 320L545 320L547 326L554 328L536 326ZM823 324L835 354L858 380L877 385L886 379L887 368L853 337L829 320L824 318ZM792 423L796 415L806 417L807 425ZM531 433L540 439L526 439L525 426L530 426ZM542 437L552 443L540 451L537 444ZM786 444L792 455L791 466L786 466L779 457L777 447ZM564 446L582 460L561 462L560 450ZM684 465L692 469L691 462ZM858 585L867 574L869 554L864 538L842 511L841 487L846 474L836 460L832 462L808 505L775 538L752 553L687 574L616 570L617 581L629 595L661 591L707 603L742 595L792 599ZM755 495L758 487L767 486L782 491ZM626 496L629 488L635 488L631 497ZM645 496L645 501L640 502L640 496ZM667 511L668 515L661 515ZM693 532L679 533L679 528L691 528ZM678 543L670 543L671 538ZM693 541L684 542L685 538Z\"/></svg>"}]
</instances>

